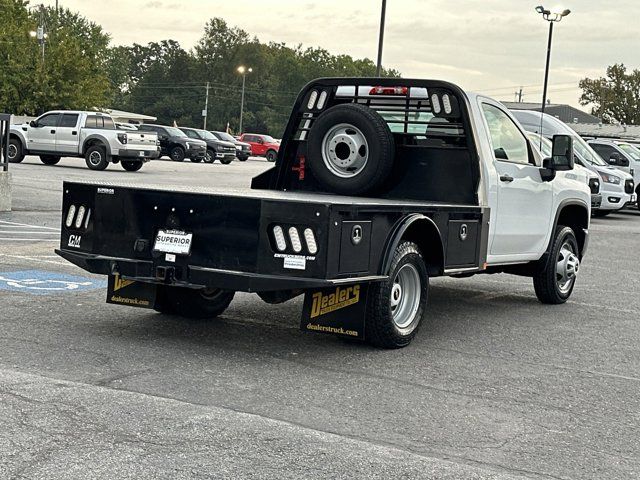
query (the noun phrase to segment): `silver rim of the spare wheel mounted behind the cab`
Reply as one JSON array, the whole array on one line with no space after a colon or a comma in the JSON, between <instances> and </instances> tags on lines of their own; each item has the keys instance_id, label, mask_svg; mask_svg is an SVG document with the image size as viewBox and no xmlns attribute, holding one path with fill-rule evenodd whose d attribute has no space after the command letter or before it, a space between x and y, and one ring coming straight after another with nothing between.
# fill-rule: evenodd
<instances>
[{"instance_id":1,"label":"silver rim of the spare wheel mounted behind the cab","mask_svg":"<svg viewBox=\"0 0 640 480\"><path fill-rule=\"evenodd\" d=\"M353 178L362 172L369 160L369 144L358 128L341 123L324 136L322 159L334 175Z\"/></svg>"}]
</instances>

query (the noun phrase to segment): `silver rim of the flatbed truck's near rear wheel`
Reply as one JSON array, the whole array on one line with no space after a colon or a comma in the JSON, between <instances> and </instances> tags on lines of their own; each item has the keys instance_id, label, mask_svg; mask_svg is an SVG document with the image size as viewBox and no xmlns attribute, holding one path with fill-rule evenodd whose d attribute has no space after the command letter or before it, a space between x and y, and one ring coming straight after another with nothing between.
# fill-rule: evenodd
<instances>
[{"instance_id":1,"label":"silver rim of the flatbed truck's near rear wheel","mask_svg":"<svg viewBox=\"0 0 640 480\"><path fill-rule=\"evenodd\" d=\"M415 320L420 308L420 274L410 263L403 265L391 287L391 315L400 330L408 328Z\"/></svg>"}]
</instances>

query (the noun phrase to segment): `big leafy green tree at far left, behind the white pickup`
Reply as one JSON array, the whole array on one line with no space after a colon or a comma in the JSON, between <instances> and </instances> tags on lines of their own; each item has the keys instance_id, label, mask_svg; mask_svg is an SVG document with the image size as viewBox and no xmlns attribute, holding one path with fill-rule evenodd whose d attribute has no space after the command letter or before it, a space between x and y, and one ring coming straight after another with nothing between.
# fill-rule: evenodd
<instances>
[{"instance_id":1,"label":"big leafy green tree at far left, behind the white pickup","mask_svg":"<svg viewBox=\"0 0 640 480\"><path fill-rule=\"evenodd\" d=\"M22 0L0 0L0 105L15 114L37 115L52 108L106 106L109 36L69 10L27 10ZM44 59L30 36L44 25Z\"/></svg>"}]
</instances>

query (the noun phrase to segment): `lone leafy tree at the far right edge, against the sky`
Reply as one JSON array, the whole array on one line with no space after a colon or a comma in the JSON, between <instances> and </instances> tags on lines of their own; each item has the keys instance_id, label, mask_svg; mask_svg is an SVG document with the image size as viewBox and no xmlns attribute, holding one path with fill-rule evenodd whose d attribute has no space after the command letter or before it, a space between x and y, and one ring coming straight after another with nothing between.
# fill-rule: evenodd
<instances>
[{"instance_id":1,"label":"lone leafy tree at the far right edge, against the sky","mask_svg":"<svg viewBox=\"0 0 640 480\"><path fill-rule=\"evenodd\" d=\"M623 64L607 68L606 77L580 81L581 105L607 123L640 125L640 70L627 72Z\"/></svg>"}]
</instances>

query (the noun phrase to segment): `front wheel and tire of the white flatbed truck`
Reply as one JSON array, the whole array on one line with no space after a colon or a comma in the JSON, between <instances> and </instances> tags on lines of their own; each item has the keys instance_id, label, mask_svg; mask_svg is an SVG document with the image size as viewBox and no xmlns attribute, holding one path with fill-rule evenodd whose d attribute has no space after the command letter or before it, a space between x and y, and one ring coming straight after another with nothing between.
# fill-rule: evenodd
<instances>
[{"instance_id":1,"label":"front wheel and tire of the white flatbed truck","mask_svg":"<svg viewBox=\"0 0 640 480\"><path fill-rule=\"evenodd\" d=\"M570 227L558 225L546 264L533 276L538 300L550 305L567 301L580 269L578 240Z\"/></svg>"}]
</instances>

